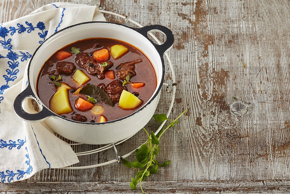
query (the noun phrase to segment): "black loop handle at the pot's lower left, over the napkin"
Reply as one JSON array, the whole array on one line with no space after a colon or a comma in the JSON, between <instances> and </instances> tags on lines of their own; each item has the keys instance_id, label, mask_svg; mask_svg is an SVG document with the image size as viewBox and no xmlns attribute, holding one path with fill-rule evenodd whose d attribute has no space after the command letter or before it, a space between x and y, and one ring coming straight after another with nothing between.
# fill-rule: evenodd
<instances>
[{"instance_id":1,"label":"black loop handle at the pot's lower left, over the napkin","mask_svg":"<svg viewBox=\"0 0 290 194\"><path fill-rule=\"evenodd\" d=\"M24 100L31 98L34 99L38 104L39 107L41 109L41 111L39 113L35 113L35 114L30 114L27 113L23 107L22 107L22 103ZM48 110L46 107L42 106L38 99L36 98L36 96L34 95L30 84L28 84L27 88L25 90L23 90L14 100L13 103L13 108L14 108L14 112L23 120L27 121L27 122L41 122L44 119L46 119L47 117L51 117L52 112L50 110Z\"/></svg>"}]
</instances>

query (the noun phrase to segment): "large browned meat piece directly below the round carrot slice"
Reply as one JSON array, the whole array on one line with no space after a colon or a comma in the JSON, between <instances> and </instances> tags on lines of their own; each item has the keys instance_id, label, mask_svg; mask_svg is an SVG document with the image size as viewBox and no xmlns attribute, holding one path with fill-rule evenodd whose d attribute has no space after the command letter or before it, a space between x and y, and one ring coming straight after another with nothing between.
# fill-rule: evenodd
<instances>
[{"instance_id":1,"label":"large browned meat piece directly below the round carrot slice","mask_svg":"<svg viewBox=\"0 0 290 194\"><path fill-rule=\"evenodd\" d=\"M80 68L85 69L88 74L96 75L99 79L104 79L104 70L113 65L112 62L107 61L108 66L103 67L103 63L97 62L93 57L90 57L88 53L84 52L76 55L75 62Z\"/></svg>"}]
</instances>

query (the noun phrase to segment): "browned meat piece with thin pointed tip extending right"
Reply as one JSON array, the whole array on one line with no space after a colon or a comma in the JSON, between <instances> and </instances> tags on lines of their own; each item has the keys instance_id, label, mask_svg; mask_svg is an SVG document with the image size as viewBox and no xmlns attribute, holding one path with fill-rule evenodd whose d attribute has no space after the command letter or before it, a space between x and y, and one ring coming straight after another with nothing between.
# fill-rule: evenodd
<instances>
[{"instance_id":1,"label":"browned meat piece with thin pointed tip extending right","mask_svg":"<svg viewBox=\"0 0 290 194\"><path fill-rule=\"evenodd\" d=\"M142 62L142 59L137 59L135 61L130 61L127 63L121 63L119 66L116 67L117 70L117 77L119 79L125 80L127 75L132 78L133 76L136 75L136 72L134 71L135 69L135 64Z\"/></svg>"}]
</instances>

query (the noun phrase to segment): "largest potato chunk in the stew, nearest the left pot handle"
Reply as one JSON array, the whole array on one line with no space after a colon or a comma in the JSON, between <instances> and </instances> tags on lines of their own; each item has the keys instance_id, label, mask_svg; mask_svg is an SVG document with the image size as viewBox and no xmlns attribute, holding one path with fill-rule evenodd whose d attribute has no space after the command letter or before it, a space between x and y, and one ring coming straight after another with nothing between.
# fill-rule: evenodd
<instances>
[{"instance_id":1,"label":"largest potato chunk in the stew, nearest the left pot handle","mask_svg":"<svg viewBox=\"0 0 290 194\"><path fill-rule=\"evenodd\" d=\"M50 100L50 109L58 115L73 112L68 96L68 90L66 88L61 88L52 96L52 99Z\"/></svg>"}]
</instances>

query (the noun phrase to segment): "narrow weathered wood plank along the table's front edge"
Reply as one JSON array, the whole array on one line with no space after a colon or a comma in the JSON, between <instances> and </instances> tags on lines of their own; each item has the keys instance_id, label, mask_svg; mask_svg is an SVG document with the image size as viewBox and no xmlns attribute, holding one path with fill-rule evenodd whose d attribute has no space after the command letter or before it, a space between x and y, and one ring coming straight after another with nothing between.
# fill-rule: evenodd
<instances>
[{"instance_id":1,"label":"narrow weathered wood plank along the table's front edge","mask_svg":"<svg viewBox=\"0 0 290 194\"><path fill-rule=\"evenodd\" d=\"M142 193L129 182L52 182L1 184L1 194L10 193ZM146 193L289 193L290 181L155 181L142 182Z\"/></svg>"}]
</instances>

